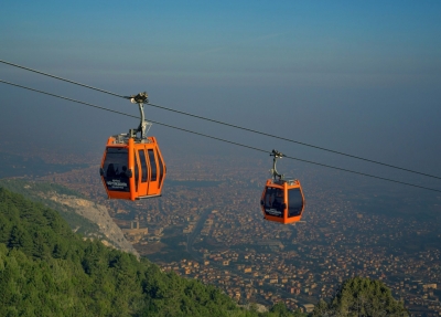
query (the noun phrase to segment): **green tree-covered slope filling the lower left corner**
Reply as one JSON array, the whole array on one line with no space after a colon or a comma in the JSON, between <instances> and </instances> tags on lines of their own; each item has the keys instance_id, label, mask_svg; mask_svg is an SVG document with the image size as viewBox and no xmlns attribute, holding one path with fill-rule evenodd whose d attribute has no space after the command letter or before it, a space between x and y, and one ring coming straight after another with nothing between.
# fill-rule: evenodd
<instances>
[{"instance_id":1,"label":"green tree-covered slope filling the lower left corner","mask_svg":"<svg viewBox=\"0 0 441 317\"><path fill-rule=\"evenodd\" d=\"M0 293L0 316L294 316L241 309L214 286L84 240L56 211L4 188Z\"/></svg>"}]
</instances>

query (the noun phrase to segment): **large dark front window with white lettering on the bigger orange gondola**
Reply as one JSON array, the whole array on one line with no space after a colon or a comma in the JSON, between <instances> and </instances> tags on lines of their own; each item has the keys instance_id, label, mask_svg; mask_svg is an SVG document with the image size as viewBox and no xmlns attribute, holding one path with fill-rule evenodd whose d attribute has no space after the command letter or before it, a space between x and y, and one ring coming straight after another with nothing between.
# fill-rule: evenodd
<instances>
[{"instance_id":1,"label":"large dark front window with white lettering on the bigger orange gondola","mask_svg":"<svg viewBox=\"0 0 441 317\"><path fill-rule=\"evenodd\" d=\"M107 148L104 161L104 180L109 191L130 191L126 175L129 154L126 148Z\"/></svg>"}]
</instances>

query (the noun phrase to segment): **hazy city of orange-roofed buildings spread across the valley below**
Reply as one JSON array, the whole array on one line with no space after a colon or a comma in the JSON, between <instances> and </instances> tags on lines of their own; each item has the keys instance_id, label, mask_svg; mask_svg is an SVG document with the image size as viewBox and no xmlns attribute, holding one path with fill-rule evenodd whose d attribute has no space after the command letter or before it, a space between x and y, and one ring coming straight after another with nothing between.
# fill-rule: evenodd
<instances>
[{"instance_id":1,"label":"hazy city of orange-roofed buildings spread across the valley below","mask_svg":"<svg viewBox=\"0 0 441 317\"><path fill-rule=\"evenodd\" d=\"M259 208L269 160L180 157L166 162L163 196L144 201L108 200L98 165L40 179L106 205L141 255L164 271L214 284L239 304L283 300L304 310L331 298L344 279L364 276L381 279L412 316L441 315L439 194L427 205L415 203L413 215L399 208L385 213L385 205L372 208L375 190L358 193L344 182L335 188L318 170L298 171L306 197L304 221L282 225L265 221ZM423 210L432 218L419 219Z\"/></svg>"}]
</instances>

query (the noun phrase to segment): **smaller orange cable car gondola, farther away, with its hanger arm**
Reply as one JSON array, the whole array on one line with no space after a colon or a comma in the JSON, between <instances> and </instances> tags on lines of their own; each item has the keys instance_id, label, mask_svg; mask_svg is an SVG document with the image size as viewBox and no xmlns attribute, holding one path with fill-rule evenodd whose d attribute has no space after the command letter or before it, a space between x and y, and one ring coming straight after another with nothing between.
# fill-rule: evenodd
<instances>
[{"instance_id":1,"label":"smaller orange cable car gondola, farther away, with its hanger arm","mask_svg":"<svg viewBox=\"0 0 441 317\"><path fill-rule=\"evenodd\" d=\"M284 179L276 170L276 160L283 155L272 150L272 179L268 179L265 186L260 205L263 219L283 224L301 220L305 200L300 181L297 179Z\"/></svg>"}]
</instances>

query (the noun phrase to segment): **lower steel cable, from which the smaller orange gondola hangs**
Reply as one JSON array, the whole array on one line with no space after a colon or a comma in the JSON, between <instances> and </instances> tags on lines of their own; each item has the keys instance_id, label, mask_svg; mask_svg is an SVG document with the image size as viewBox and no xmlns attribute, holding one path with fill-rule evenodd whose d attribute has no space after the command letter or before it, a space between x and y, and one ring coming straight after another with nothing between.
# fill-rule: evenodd
<instances>
[{"instance_id":1,"label":"lower steel cable, from which the smaller orange gondola hangs","mask_svg":"<svg viewBox=\"0 0 441 317\"><path fill-rule=\"evenodd\" d=\"M32 91L32 92L36 92L36 93L41 93L41 94L44 94L44 95L53 96L53 97L56 97L56 98L62 98L62 99L65 99L65 101L74 102L74 103L77 103L77 104L86 105L86 106L98 108L98 109L101 109L101 110L106 110L106 112L115 113L115 114L118 114L118 115L123 115L123 116L127 116L127 117L132 117L132 118L139 119L139 117L133 116L133 115L129 115L129 114L125 114L125 113L121 113L121 112L112 110L112 109L109 109L109 108L106 108L106 107L100 107L100 106L97 106L97 105L94 105L94 104L76 101L76 99L73 99L73 98L68 98L68 97L64 97L64 96L46 93L46 92L43 92L43 91L30 88L30 87L26 87L26 86L13 84L13 83L10 83L10 82L7 82L7 81L0 80L0 83L4 83L4 84L11 85L11 86L19 87L19 88L29 89L29 91ZM235 142L235 141L232 141L232 140L227 140L227 139L223 139L223 138L218 138L218 137L214 137L214 136L209 136L209 135L192 131L192 130L189 130L189 129L171 126L171 125L159 123L159 121L154 121L154 120L149 120L149 121L153 123L153 124L157 124L157 125L160 125L160 126L168 127L168 128L172 128L172 129L190 133L190 134L193 134L193 135L211 138L211 139L214 139L214 140L227 142L227 144L239 146L239 147L243 147L243 148L248 148L248 149L252 149L252 150L265 152L265 154L271 154L268 150L263 150L263 149L260 149L260 148L247 146L247 145ZM404 181L398 181L398 180L394 180L394 179L388 179L388 178L384 178L384 177L378 177L378 176L374 176L374 175L369 175L369 173L364 173L364 172L358 172L358 171L344 169L344 168L340 168L340 167L319 163L319 162L304 160L304 159L300 159L300 158L295 158L295 157L290 157L290 156L284 156L284 155L283 155L283 157L288 158L288 159L301 161L301 162L315 165L315 166L321 166L321 167L331 168L331 169L335 169L335 170L340 170L340 171L345 171L345 172L351 172L351 173L355 173L355 175L359 175L359 176L370 177L370 178L374 178L374 179L379 179L379 180L385 180L385 181L389 181L389 182L394 182L394 183L400 183L400 184L406 184L406 186L410 186L410 187L415 187L415 188L420 188L420 189L426 189L426 190L430 190L430 191L441 192L441 190L433 189L433 188L422 187L422 186L408 183L408 182L404 182Z\"/></svg>"}]
</instances>

